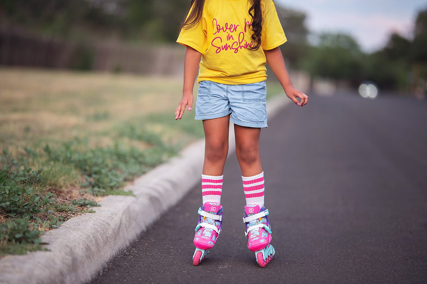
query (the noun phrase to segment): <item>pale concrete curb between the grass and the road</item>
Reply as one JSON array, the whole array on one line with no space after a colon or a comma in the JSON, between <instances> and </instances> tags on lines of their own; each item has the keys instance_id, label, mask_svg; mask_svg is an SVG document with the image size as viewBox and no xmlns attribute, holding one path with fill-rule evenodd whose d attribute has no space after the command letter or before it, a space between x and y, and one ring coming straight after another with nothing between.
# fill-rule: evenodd
<instances>
[{"instance_id":1,"label":"pale concrete curb between the grass and the road","mask_svg":"<svg viewBox=\"0 0 427 284\"><path fill-rule=\"evenodd\" d=\"M290 100L277 96L267 102L271 118ZM230 125L228 155L234 154ZM0 260L0 283L86 283L120 250L175 205L200 182L205 141L183 149L177 157L140 176L126 187L136 196L107 196L96 213L74 217L44 234L49 252L11 255Z\"/></svg>"}]
</instances>

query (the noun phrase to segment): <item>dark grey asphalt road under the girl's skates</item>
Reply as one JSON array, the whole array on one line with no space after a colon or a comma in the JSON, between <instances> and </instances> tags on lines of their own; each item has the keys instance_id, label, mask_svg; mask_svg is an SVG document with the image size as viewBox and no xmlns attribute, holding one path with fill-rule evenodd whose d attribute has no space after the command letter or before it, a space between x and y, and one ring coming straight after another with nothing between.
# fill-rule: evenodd
<instances>
[{"instance_id":1,"label":"dark grey asphalt road under the girl's skates","mask_svg":"<svg viewBox=\"0 0 427 284\"><path fill-rule=\"evenodd\" d=\"M92 283L427 281L427 102L310 97L261 131L276 255L246 247L235 155L224 171L222 234L199 266L197 186Z\"/></svg>"}]
</instances>

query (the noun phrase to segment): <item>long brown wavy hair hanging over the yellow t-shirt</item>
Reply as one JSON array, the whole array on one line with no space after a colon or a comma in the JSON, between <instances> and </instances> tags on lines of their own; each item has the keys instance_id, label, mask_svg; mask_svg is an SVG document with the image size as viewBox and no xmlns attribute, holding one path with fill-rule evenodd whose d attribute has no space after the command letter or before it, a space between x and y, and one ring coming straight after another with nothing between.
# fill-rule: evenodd
<instances>
[{"instance_id":1,"label":"long brown wavy hair hanging over the yellow t-shirt","mask_svg":"<svg viewBox=\"0 0 427 284\"><path fill-rule=\"evenodd\" d=\"M252 24L249 29L252 30L253 34L251 36L252 40L256 43L253 47L249 47L252 50L257 50L261 46L261 32L263 30L263 13L261 11L261 0L248 0L250 1L251 6L249 8L249 15L253 18ZM194 7L193 7L194 5ZM205 0L191 0L190 7L188 8L187 19L184 19L179 27L179 32L181 29L190 29L193 26L199 24L202 19L203 7L205 6ZM193 9L191 9L193 7Z\"/></svg>"}]
</instances>

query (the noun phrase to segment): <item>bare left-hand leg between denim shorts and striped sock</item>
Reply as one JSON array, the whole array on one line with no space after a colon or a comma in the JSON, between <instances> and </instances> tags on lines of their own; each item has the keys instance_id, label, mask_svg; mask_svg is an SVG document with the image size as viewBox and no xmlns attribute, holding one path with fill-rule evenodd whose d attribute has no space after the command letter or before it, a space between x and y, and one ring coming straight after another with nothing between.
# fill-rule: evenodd
<instances>
[{"instance_id":1,"label":"bare left-hand leg between denim shorts and striped sock","mask_svg":"<svg viewBox=\"0 0 427 284\"><path fill-rule=\"evenodd\" d=\"M203 174L222 176L228 154L230 115L203 120L205 130L205 162Z\"/></svg>"}]
</instances>

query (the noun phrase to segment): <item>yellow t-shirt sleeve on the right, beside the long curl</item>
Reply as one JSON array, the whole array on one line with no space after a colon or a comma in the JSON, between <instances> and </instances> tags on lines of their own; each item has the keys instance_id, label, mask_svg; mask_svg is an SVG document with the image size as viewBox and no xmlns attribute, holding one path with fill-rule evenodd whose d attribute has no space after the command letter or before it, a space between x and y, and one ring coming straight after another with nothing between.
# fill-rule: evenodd
<instances>
[{"instance_id":1,"label":"yellow t-shirt sleeve on the right, beside the long curl","mask_svg":"<svg viewBox=\"0 0 427 284\"><path fill-rule=\"evenodd\" d=\"M270 50L287 41L276 7L272 0L265 1L264 22L261 32L261 47Z\"/></svg>"}]
</instances>

